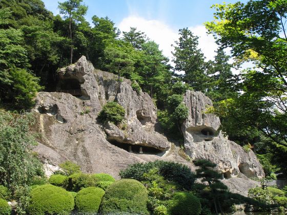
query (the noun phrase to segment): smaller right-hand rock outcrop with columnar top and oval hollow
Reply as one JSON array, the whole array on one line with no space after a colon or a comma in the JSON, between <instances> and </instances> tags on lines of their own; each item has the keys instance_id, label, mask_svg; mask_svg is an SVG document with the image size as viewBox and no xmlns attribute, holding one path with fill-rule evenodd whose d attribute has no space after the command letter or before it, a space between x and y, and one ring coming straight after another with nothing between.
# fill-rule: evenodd
<instances>
[{"instance_id":1,"label":"smaller right-hand rock outcrop with columnar top and oval hollow","mask_svg":"<svg viewBox=\"0 0 287 215\"><path fill-rule=\"evenodd\" d=\"M187 91L184 102L189 116L181 129L185 138L186 153L192 160L208 159L226 179L240 174L248 178L264 177L262 166L255 154L245 152L241 146L228 140L220 132L220 120L214 114L206 114L212 101L201 92Z\"/></svg>"}]
</instances>

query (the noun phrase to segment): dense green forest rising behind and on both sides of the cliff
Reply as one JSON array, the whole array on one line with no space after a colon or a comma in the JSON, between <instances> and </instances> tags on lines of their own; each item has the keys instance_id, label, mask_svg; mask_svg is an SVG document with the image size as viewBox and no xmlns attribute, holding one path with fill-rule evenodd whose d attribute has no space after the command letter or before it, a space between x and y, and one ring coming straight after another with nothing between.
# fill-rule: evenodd
<instances>
[{"instance_id":1,"label":"dense green forest rising behind and on both sides of the cliff","mask_svg":"<svg viewBox=\"0 0 287 215\"><path fill-rule=\"evenodd\" d=\"M29 134L28 128L33 119L30 114L20 113L31 109L37 92L55 91L58 69L74 63L82 55L95 68L115 73L119 80L121 77L130 79L133 89L147 92L157 106L162 130L178 142L182 141L180 124L187 117L183 94L186 90L201 91L214 102L209 113L220 117L222 132L257 154L267 178L286 177L287 1L250 0L246 4L212 7L214 20L205 25L219 46L214 60L206 60L198 48L198 37L188 28L179 30L179 38L172 45L173 59L168 59L145 32L136 28L120 32L109 17L96 14L92 24L87 22L84 16L88 7L83 0L59 3L57 15L48 11L40 0L0 1L0 184L21 199L27 190L19 189L23 192L19 194L15 192L17 187L35 185L37 183L31 180L43 176L30 148L35 144L35 137ZM231 50L231 56L226 54L227 49ZM244 62L252 62L253 68L242 69ZM232 70L236 70L236 74ZM18 166L19 160L9 157L13 150L18 152L19 160L27 160L28 168ZM12 165L17 168L9 173ZM154 168L161 165L149 168L145 179L135 179L148 178L147 183L152 183L147 175L152 175ZM214 167L204 162L198 165ZM23 169L27 175L19 178L17 173ZM208 178L204 169L197 175ZM164 199L164 193L168 193L163 189L175 186L165 177L159 174L155 179L163 184L163 194L156 193L154 187L153 195L159 195L158 199ZM218 176L213 174L213 177L219 184ZM218 186L210 189L212 192L226 189ZM1 189L0 198L4 198ZM180 195L177 198L183 198ZM23 198L21 201L25 203Z\"/></svg>"}]
</instances>

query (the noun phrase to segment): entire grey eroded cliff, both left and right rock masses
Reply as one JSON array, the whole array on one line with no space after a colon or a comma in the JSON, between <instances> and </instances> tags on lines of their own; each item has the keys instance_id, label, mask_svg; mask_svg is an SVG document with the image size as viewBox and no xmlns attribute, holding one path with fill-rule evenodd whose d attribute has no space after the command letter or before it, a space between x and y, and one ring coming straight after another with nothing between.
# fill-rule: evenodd
<instances>
[{"instance_id":1,"label":"entire grey eroded cliff, both left and right rock masses","mask_svg":"<svg viewBox=\"0 0 287 215\"><path fill-rule=\"evenodd\" d=\"M98 113L114 100L124 107L125 121L120 126L98 123ZM209 98L187 91L185 103L189 108L182 125L186 153L193 160L215 162L225 178L231 178L226 180L229 184L233 184L232 177L248 184L244 191L237 189L246 194L256 185L247 177L263 176L254 153L245 153L217 132L219 118L204 114L212 105ZM179 146L158 131L156 111L150 96L143 92L137 95L130 80L118 81L114 74L95 70L83 56L59 71L57 92L38 93L34 112L41 137L35 150L49 169L71 160L87 173L103 172L115 178L129 164L157 159L180 162L195 170L192 162L179 155ZM236 186L230 187L233 190Z\"/></svg>"}]
</instances>

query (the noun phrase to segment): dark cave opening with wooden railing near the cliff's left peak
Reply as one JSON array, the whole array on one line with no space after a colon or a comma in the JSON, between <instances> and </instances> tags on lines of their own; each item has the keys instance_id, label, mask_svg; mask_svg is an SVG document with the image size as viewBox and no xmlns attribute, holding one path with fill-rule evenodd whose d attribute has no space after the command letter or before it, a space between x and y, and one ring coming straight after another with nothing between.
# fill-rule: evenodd
<instances>
[{"instance_id":1,"label":"dark cave opening with wooden railing near the cliff's left peak","mask_svg":"<svg viewBox=\"0 0 287 215\"><path fill-rule=\"evenodd\" d=\"M59 81L58 92L69 93L73 96L82 96L80 82L77 79L63 79Z\"/></svg>"}]
</instances>

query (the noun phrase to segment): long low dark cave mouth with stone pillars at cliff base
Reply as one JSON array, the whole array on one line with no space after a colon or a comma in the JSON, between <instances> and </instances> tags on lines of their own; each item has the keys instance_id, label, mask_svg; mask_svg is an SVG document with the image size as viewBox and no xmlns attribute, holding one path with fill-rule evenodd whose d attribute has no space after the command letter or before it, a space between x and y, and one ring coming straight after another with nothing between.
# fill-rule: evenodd
<instances>
[{"instance_id":1,"label":"long low dark cave mouth with stone pillars at cliff base","mask_svg":"<svg viewBox=\"0 0 287 215\"><path fill-rule=\"evenodd\" d=\"M157 149L157 148L154 148L154 147L149 147L149 146L144 146L144 145L134 145L134 144L129 144L129 143L122 143L122 142L118 142L114 139L107 139L107 140L112 145L117 146L119 148L122 148L122 149L126 150L127 152L133 153L133 154L157 155L157 156L162 156L163 154L165 154L164 151Z\"/></svg>"}]
</instances>

